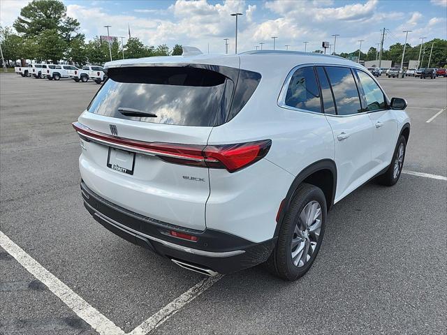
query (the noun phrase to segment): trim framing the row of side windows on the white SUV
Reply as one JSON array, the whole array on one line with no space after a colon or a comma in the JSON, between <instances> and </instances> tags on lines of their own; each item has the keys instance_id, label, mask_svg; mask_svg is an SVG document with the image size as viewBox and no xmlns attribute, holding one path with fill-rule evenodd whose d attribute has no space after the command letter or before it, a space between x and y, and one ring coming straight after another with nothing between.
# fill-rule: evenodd
<instances>
[{"instance_id":1,"label":"trim framing the row of side windows on the white SUV","mask_svg":"<svg viewBox=\"0 0 447 335\"><path fill-rule=\"evenodd\" d=\"M298 70L299 68L304 68L304 67L307 67L307 66L314 66L314 67L315 66L323 66L324 70L325 70L325 67L338 67L338 68L357 69L357 70L363 71L362 68L360 68L360 66L349 66L349 65L345 65L345 64L334 64L334 63L312 63L312 64L307 63L307 64L300 64L298 66L295 66L294 68L292 68L289 71L288 75L286 76L286 79L284 80L284 83L282 84L281 91L279 91L279 96L278 96L278 99L277 99L278 107L284 108L286 110L295 110L297 112L305 112L305 113L310 113L310 114L325 115L325 116L328 116L328 117L356 117L356 115L363 115L363 114L369 114L371 112L379 112L380 111L380 110L374 110L374 111L370 111L370 112L361 112L361 113L356 113L356 114L339 115L338 114L338 110L337 110L337 103L335 103L335 97L334 97L334 94L333 94L333 91L332 91L332 84L330 83L330 81L329 81L329 86L330 86L330 89L331 89L331 92L332 92L332 99L334 99L334 105L335 105L335 109L336 109L337 114L327 114L327 113L324 112L324 110L323 110L323 112L312 112L312 110L302 110L300 108L295 108L295 107L291 107L291 106L286 105L285 104L285 100L286 100L288 84L291 81L291 77L292 77L293 73L295 73L295 71ZM351 72L352 72L352 70L351 70ZM365 72L365 71L363 71L363 72ZM326 76L328 76L327 73L326 73ZM371 76L369 75L369 77L371 77ZM388 105L388 109L387 110L389 110L389 101L390 100L389 100L388 96L383 91L383 89L380 86L379 82L377 82L377 80L375 80L374 78L372 78L372 79L374 80L374 82L376 82L376 84L381 89L383 95L385 96L386 103ZM355 80L356 80L356 78L354 77L354 81ZM318 82L318 77L317 77L317 82ZM318 82L318 87L321 89L319 82ZM357 89L357 91L358 91L358 89ZM359 98L360 98L360 92L358 92L358 93L359 93ZM321 96L320 96L320 101L321 101ZM362 104L362 99L360 98L360 105L361 104Z\"/></svg>"}]
</instances>

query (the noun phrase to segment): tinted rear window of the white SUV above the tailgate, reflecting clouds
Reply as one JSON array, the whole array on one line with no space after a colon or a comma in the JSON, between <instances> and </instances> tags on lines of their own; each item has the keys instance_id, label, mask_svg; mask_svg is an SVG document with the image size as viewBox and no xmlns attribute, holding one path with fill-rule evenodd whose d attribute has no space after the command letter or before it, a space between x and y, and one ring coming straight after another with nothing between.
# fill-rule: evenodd
<instances>
[{"instance_id":1,"label":"tinted rear window of the white SUV above the tailgate, reflecting clouds","mask_svg":"<svg viewBox=\"0 0 447 335\"><path fill-rule=\"evenodd\" d=\"M244 87L247 89L237 94L235 82L240 71L235 68L226 68L223 72L235 74L235 78L230 78L219 72L219 68L224 67L110 68L108 80L98 91L87 110L107 117L157 124L218 126L228 121L230 113L234 116L234 108L230 108L232 99L233 105L237 104L242 108L261 79L258 73L255 73L257 76L248 76L248 79L247 76L239 75L241 82L252 80L253 77L257 81L254 87L245 84ZM243 72L251 73L250 71ZM248 96L247 91L249 91ZM126 116L119 112L119 107L153 113L156 117Z\"/></svg>"}]
</instances>

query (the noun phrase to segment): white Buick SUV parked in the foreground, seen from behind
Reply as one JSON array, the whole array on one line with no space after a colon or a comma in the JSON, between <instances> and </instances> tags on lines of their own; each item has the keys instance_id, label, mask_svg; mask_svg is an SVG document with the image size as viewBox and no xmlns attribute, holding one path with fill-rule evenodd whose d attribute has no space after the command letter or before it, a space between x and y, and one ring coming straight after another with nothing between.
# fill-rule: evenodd
<instances>
[{"instance_id":1,"label":"white Buick SUV parked in the foreground, seen from behind","mask_svg":"<svg viewBox=\"0 0 447 335\"><path fill-rule=\"evenodd\" d=\"M406 101L339 57L192 53L105 64L108 80L73 124L85 207L186 269L265 262L293 281L332 205L370 179L399 179Z\"/></svg>"}]
</instances>

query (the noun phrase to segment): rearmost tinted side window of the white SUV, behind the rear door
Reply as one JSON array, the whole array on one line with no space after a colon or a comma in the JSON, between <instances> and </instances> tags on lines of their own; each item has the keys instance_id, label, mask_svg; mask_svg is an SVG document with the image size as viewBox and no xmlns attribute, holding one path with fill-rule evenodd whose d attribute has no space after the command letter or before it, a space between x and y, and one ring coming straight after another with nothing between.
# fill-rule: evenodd
<instances>
[{"instance_id":1,"label":"rearmost tinted side window of the white SUV, behind the rear door","mask_svg":"<svg viewBox=\"0 0 447 335\"><path fill-rule=\"evenodd\" d=\"M316 84L315 72L312 66L299 68L293 73L288 84L284 103L290 107L302 110L321 112L318 84Z\"/></svg>"}]
</instances>

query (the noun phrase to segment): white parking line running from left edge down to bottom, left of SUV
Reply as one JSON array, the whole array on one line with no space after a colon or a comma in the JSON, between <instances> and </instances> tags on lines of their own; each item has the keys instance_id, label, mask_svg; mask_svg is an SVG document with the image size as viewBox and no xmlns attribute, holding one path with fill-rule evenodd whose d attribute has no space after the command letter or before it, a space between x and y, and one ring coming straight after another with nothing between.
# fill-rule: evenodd
<instances>
[{"instance_id":1,"label":"white parking line running from left edge down to bottom, left of SUV","mask_svg":"<svg viewBox=\"0 0 447 335\"><path fill-rule=\"evenodd\" d=\"M71 288L62 283L54 274L40 265L34 258L25 253L20 246L17 246L3 232L0 231L0 246L6 250L22 267L35 276L59 299L71 308L82 320L87 322L99 334L117 335L124 334L124 331L115 323L105 318L96 308L90 306L87 301L77 295Z\"/></svg>"}]
</instances>

